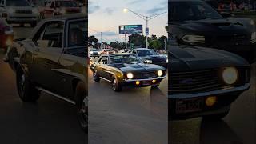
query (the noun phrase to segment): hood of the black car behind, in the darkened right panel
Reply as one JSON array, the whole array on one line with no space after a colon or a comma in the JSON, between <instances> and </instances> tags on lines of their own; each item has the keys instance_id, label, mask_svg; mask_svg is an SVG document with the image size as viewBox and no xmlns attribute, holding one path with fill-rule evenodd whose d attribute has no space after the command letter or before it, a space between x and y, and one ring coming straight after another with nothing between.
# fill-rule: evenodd
<instances>
[{"instance_id":1,"label":"hood of the black car behind, in the darkened right panel","mask_svg":"<svg viewBox=\"0 0 256 144\"><path fill-rule=\"evenodd\" d=\"M248 34L246 26L239 22L230 22L226 19L186 21L179 24L188 31L203 34Z\"/></svg>"}]
</instances>

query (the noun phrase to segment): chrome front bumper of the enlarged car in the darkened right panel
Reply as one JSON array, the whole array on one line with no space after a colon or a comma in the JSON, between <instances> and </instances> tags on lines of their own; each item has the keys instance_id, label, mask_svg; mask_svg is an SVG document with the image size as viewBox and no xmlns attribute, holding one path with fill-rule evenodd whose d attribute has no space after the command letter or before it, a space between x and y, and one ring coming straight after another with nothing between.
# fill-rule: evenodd
<instances>
[{"instance_id":1,"label":"chrome front bumper of the enlarged car in the darkened right panel","mask_svg":"<svg viewBox=\"0 0 256 144\"><path fill-rule=\"evenodd\" d=\"M203 96L210 96L210 95L217 95L217 94L225 94L225 93L231 93L241 90L248 90L250 88L250 83L246 83L244 86L230 88L226 90L214 90L210 92L203 92L203 93L197 93L197 94L168 94L168 98L174 99L174 98L194 98L194 97L203 97Z\"/></svg>"}]
</instances>

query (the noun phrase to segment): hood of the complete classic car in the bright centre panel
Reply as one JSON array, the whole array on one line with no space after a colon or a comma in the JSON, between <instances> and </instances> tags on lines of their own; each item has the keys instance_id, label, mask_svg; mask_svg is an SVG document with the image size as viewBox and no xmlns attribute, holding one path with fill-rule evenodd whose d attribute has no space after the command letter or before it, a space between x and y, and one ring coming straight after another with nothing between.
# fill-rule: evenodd
<instances>
[{"instance_id":1,"label":"hood of the complete classic car in the bright centre panel","mask_svg":"<svg viewBox=\"0 0 256 144\"><path fill-rule=\"evenodd\" d=\"M143 64L143 63L136 63L136 64L114 64L111 65L119 70L121 70L123 73L129 73L129 72L152 72L155 70L165 70L162 66L157 66L153 64Z\"/></svg>"}]
</instances>

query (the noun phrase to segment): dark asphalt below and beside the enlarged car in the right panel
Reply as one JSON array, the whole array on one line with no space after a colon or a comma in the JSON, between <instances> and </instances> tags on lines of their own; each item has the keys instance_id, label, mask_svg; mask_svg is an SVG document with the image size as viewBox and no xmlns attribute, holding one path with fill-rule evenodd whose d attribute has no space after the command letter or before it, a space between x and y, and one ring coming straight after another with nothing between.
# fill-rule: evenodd
<instances>
[{"instance_id":1,"label":"dark asphalt below and beside the enlarged car in the right panel","mask_svg":"<svg viewBox=\"0 0 256 144\"><path fill-rule=\"evenodd\" d=\"M255 71L252 66L250 90L232 104L230 113L222 121L206 122L192 118L169 122L171 144L254 144L255 118Z\"/></svg>"}]
</instances>

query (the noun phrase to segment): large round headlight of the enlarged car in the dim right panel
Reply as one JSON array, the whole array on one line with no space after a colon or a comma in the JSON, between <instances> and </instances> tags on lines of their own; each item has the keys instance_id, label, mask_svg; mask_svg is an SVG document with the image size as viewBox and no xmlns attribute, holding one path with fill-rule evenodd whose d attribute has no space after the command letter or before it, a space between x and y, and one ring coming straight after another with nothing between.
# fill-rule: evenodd
<instances>
[{"instance_id":1,"label":"large round headlight of the enlarged car in the dim right panel","mask_svg":"<svg viewBox=\"0 0 256 144\"><path fill-rule=\"evenodd\" d=\"M223 70L222 78L228 85L232 85L238 80L238 70L234 67L228 67Z\"/></svg>"}]
</instances>

